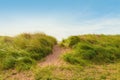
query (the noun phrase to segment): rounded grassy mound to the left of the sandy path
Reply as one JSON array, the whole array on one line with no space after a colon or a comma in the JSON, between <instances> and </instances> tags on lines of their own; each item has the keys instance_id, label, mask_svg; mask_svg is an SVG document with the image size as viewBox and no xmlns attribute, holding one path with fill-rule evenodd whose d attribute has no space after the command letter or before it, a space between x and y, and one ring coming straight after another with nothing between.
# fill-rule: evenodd
<instances>
[{"instance_id":1,"label":"rounded grassy mound to the left of the sandy path","mask_svg":"<svg viewBox=\"0 0 120 80\"><path fill-rule=\"evenodd\" d=\"M56 39L43 33L0 37L0 69L28 70L52 52Z\"/></svg>"}]
</instances>

